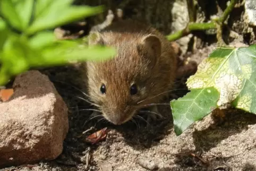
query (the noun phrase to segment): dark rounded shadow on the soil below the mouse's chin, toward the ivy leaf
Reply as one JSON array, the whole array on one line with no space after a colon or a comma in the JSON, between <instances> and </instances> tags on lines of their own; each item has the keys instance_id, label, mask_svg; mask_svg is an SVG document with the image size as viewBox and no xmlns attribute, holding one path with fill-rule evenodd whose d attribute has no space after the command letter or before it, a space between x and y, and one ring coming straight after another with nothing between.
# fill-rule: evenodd
<instances>
[{"instance_id":1,"label":"dark rounded shadow on the soil below the mouse's chin, toward the ivy leaf","mask_svg":"<svg viewBox=\"0 0 256 171\"><path fill-rule=\"evenodd\" d=\"M170 133L168 130L173 127L170 107L160 106L158 108L159 113L161 113L164 118L149 122L149 127L147 127L147 123L140 118L135 118L137 124L127 122L123 125L113 126L113 128L121 133L126 144L133 147L135 150L144 150L145 148L157 146L159 141ZM144 119L147 119L147 117L145 116Z\"/></svg>"}]
</instances>

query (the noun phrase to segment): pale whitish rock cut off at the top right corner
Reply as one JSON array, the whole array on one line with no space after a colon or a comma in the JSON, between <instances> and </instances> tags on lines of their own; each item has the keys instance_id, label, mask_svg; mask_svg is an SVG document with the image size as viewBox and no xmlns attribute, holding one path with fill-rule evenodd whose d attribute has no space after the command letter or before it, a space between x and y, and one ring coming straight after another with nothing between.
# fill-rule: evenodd
<instances>
[{"instance_id":1,"label":"pale whitish rock cut off at the top right corner","mask_svg":"<svg viewBox=\"0 0 256 171\"><path fill-rule=\"evenodd\" d=\"M256 1L245 0L245 13L248 15L248 19L251 25L256 26Z\"/></svg>"}]
</instances>

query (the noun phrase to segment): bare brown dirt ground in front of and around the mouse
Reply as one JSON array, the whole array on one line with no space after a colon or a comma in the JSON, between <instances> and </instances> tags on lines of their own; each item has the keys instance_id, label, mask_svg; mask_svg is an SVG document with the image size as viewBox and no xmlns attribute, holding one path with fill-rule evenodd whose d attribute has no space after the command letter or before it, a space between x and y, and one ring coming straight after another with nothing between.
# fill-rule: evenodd
<instances>
[{"instance_id":1,"label":"bare brown dirt ground in front of and around the mouse","mask_svg":"<svg viewBox=\"0 0 256 171\"><path fill-rule=\"evenodd\" d=\"M186 56L201 61L214 47ZM80 71L73 66L42 70L69 106L70 130L62 155L53 161L1 170L149 170L143 164L161 171L256 170L255 115L229 109L223 122L208 115L176 136L169 105L159 105L165 118L151 122L150 127L142 119L115 126L90 119L91 111L83 110L91 106L78 98L86 98L80 91L83 86L78 81ZM185 80L176 81L172 97L185 95ZM105 140L86 142L88 135L105 127L108 130Z\"/></svg>"}]
</instances>

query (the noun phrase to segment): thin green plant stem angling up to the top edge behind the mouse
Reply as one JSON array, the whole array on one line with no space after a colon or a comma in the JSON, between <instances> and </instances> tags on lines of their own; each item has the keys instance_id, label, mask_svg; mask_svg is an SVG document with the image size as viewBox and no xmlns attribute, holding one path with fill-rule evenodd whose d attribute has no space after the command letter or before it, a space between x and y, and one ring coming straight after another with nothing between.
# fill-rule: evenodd
<instances>
[{"instance_id":1,"label":"thin green plant stem angling up to the top edge behind the mouse","mask_svg":"<svg viewBox=\"0 0 256 171\"><path fill-rule=\"evenodd\" d=\"M189 35L192 31L195 30L209 30L209 29L216 29L216 24L222 25L223 22L227 19L228 15L233 10L237 0L231 0L229 5L227 6L226 10L223 12L223 15L220 16L220 18L215 19L215 21L211 21L209 23L189 23L187 27L183 30L176 31L175 33L172 33L167 37L169 41L175 41L177 39L180 39L183 36Z\"/></svg>"}]
</instances>

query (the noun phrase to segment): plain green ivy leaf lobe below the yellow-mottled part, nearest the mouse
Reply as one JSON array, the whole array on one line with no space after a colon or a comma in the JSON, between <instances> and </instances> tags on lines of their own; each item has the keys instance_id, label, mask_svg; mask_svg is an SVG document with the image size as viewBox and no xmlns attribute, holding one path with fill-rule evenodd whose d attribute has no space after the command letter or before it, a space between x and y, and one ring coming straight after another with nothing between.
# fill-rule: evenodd
<instances>
[{"instance_id":1,"label":"plain green ivy leaf lobe below the yellow-mottled part, nearest the mouse","mask_svg":"<svg viewBox=\"0 0 256 171\"><path fill-rule=\"evenodd\" d=\"M193 122L199 121L217 106L219 92L213 88L192 89L182 98L170 102L176 135L182 134Z\"/></svg>"}]
</instances>

